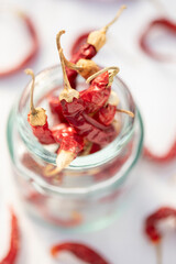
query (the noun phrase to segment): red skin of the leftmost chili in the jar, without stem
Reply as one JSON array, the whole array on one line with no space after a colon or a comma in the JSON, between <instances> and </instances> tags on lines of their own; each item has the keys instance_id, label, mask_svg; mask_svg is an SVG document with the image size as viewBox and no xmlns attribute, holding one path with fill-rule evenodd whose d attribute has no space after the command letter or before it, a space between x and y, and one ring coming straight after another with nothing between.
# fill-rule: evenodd
<instances>
[{"instance_id":1,"label":"red skin of the leftmost chili in the jar, without stem","mask_svg":"<svg viewBox=\"0 0 176 264\"><path fill-rule=\"evenodd\" d=\"M30 113L28 114L28 121L30 123ZM53 144L55 140L53 138L52 131L48 129L47 120L44 125L32 125L30 123L33 134L38 139L40 143L42 144Z\"/></svg>"}]
</instances>

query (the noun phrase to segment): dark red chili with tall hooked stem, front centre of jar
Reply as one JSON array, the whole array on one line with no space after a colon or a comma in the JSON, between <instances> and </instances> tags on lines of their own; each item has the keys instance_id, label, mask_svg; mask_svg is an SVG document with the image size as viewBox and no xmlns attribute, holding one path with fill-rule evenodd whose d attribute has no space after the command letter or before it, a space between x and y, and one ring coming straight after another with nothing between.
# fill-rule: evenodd
<instances>
[{"instance_id":1,"label":"dark red chili with tall hooked stem, front centre of jar","mask_svg":"<svg viewBox=\"0 0 176 264\"><path fill-rule=\"evenodd\" d=\"M79 135L86 136L88 141L97 143L97 144L108 144L111 142L117 133L112 125L106 127L94 120L85 112L84 100L80 98L78 91L73 89L69 85L65 64L63 51L61 50L59 38L64 31L61 31L57 34L57 48L59 51L63 74L64 74L64 90L59 95L59 100L62 105L62 111L65 119L76 129ZM111 85L113 76L117 74L117 67L110 67L105 69L105 72L109 73L109 81Z\"/></svg>"}]
</instances>

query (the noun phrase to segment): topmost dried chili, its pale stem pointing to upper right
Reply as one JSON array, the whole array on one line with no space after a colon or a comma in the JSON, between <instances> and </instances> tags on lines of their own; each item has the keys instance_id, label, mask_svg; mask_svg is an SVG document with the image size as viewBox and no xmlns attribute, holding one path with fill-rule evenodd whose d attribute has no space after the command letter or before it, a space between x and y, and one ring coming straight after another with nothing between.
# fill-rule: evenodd
<instances>
[{"instance_id":1,"label":"topmost dried chili, its pale stem pointing to upper right","mask_svg":"<svg viewBox=\"0 0 176 264\"><path fill-rule=\"evenodd\" d=\"M119 19L120 14L124 9L125 9L125 6L122 6L118 11L116 18L110 23L108 23L106 26L103 26L99 31L91 32L88 35L87 43L82 44L79 47L79 51L72 56L70 62L76 64L80 58L91 59L97 54L97 52L105 45L106 33L108 29ZM77 73L70 68L66 68L66 73L67 73L67 77L70 86L73 88L76 88Z\"/></svg>"}]
</instances>

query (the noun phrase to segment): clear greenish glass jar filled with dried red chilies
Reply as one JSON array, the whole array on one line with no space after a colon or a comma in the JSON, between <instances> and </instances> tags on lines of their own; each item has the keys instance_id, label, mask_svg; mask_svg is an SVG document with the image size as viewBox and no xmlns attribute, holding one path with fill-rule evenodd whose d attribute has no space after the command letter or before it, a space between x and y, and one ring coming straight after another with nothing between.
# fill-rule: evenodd
<instances>
[{"instance_id":1,"label":"clear greenish glass jar filled with dried red chilies","mask_svg":"<svg viewBox=\"0 0 176 264\"><path fill-rule=\"evenodd\" d=\"M85 86L81 78L78 84ZM35 78L35 106L44 107L50 114L47 95L58 94L62 85L59 66L40 73ZM114 78L112 89L120 98L120 108L134 112L135 118L119 113L121 130L113 142L97 153L77 157L53 176L48 172L56 166L56 154L38 143L26 120L30 87L31 82L13 106L8 122L8 145L22 200L35 218L62 229L107 226L128 199L134 182L130 172L143 142L141 116L128 87Z\"/></svg>"}]
</instances>

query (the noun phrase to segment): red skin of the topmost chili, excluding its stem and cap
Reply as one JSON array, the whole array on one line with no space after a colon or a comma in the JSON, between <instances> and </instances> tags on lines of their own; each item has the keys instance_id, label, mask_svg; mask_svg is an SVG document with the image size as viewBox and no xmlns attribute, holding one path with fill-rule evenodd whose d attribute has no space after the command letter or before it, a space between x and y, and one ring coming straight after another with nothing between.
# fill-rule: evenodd
<instances>
[{"instance_id":1,"label":"red skin of the topmost chili, excluding its stem and cap","mask_svg":"<svg viewBox=\"0 0 176 264\"><path fill-rule=\"evenodd\" d=\"M96 54L96 48L86 43L81 45L79 51L72 56L70 62L76 64L80 58L91 59ZM76 89L76 77L78 75L77 72L66 67L66 73L72 88Z\"/></svg>"}]
</instances>

